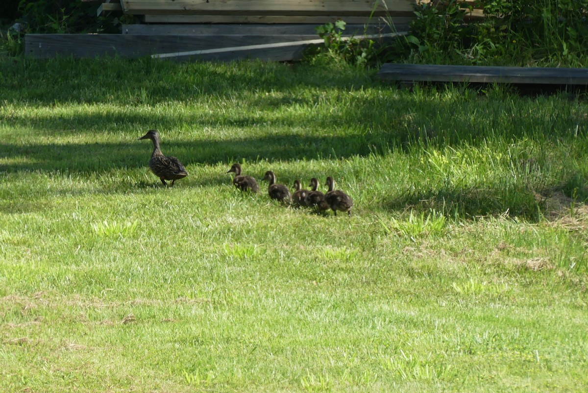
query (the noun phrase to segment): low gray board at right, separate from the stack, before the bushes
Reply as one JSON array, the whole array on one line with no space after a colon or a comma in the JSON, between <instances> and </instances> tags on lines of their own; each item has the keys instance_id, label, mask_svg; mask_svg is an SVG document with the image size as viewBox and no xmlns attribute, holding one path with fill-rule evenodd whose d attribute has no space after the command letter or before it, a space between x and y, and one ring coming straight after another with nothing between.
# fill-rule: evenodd
<instances>
[{"instance_id":1,"label":"low gray board at right, separate from the stack, before the bushes","mask_svg":"<svg viewBox=\"0 0 588 393\"><path fill-rule=\"evenodd\" d=\"M588 68L499 67L467 65L382 65L382 79L400 82L481 82L588 85Z\"/></svg>"}]
</instances>

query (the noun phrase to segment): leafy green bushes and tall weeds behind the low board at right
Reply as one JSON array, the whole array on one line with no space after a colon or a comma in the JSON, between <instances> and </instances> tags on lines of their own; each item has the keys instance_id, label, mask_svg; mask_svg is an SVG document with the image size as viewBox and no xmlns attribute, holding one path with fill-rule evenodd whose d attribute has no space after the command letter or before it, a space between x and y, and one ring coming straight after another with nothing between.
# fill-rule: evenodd
<instances>
[{"instance_id":1,"label":"leafy green bushes and tall weeds behind the low board at right","mask_svg":"<svg viewBox=\"0 0 588 393\"><path fill-rule=\"evenodd\" d=\"M409 61L454 64L584 66L586 0L477 0L484 17L457 0L417 4L409 35L393 51Z\"/></svg>"}]
</instances>

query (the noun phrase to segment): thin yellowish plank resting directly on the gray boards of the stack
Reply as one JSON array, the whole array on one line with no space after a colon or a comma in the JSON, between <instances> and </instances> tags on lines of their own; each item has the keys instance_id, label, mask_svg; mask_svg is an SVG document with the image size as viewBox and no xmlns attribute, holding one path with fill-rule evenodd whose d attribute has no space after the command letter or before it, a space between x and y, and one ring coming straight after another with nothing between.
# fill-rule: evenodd
<instances>
[{"instance_id":1,"label":"thin yellowish plank resting directly on the gray boards of the stack","mask_svg":"<svg viewBox=\"0 0 588 393\"><path fill-rule=\"evenodd\" d=\"M145 23L210 23L210 24L313 24L322 25L328 22L335 22L343 19L349 24L368 24L374 21L391 21L395 25L408 25L412 16L392 16L390 18L368 16L343 16L343 15L322 15L322 16L280 16L280 15L143 15Z\"/></svg>"}]
</instances>

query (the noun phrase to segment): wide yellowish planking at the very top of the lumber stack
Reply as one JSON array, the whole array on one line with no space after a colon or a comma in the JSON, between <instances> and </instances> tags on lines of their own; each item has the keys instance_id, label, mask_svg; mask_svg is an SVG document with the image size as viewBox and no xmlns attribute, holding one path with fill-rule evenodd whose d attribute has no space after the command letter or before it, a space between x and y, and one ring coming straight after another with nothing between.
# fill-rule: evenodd
<instances>
[{"instance_id":1,"label":"wide yellowish planking at the very top of the lumber stack","mask_svg":"<svg viewBox=\"0 0 588 393\"><path fill-rule=\"evenodd\" d=\"M394 15L415 0L122 0L125 14ZM410 15L406 15L410 16Z\"/></svg>"}]
</instances>

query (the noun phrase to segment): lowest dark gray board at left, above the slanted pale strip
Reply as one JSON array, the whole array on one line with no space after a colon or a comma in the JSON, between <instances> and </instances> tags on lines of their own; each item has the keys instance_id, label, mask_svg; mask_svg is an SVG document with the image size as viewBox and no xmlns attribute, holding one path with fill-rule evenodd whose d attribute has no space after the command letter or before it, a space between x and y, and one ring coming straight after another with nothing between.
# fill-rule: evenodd
<instances>
[{"instance_id":1,"label":"lowest dark gray board at left, above the slanted pale strip","mask_svg":"<svg viewBox=\"0 0 588 393\"><path fill-rule=\"evenodd\" d=\"M316 35L130 35L130 34L27 34L25 54L34 58L101 55L138 57L171 52L272 44L316 39ZM280 49L292 52L290 49ZM278 51L275 49L275 51ZM266 50L264 52L271 52ZM221 56L221 55L217 55ZM222 56L228 56L223 54ZM253 56L239 53L239 56ZM206 56L202 56L205 58ZM211 57L213 57L211 55ZM287 60L287 59L286 59Z\"/></svg>"}]
</instances>

